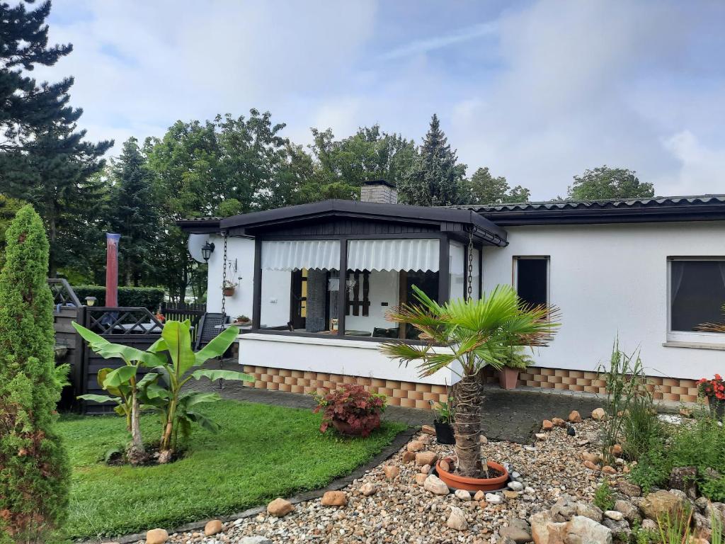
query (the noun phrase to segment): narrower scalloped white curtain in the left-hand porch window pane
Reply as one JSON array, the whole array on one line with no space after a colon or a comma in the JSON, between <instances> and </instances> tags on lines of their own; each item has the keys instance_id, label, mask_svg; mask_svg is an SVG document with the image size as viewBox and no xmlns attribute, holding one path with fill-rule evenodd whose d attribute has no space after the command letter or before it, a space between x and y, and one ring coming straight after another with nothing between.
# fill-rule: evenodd
<instances>
[{"instance_id":1,"label":"narrower scalloped white curtain in the left-hand porch window pane","mask_svg":"<svg viewBox=\"0 0 725 544\"><path fill-rule=\"evenodd\" d=\"M262 242L262 270L337 270L339 267L340 242L337 240Z\"/></svg>"}]
</instances>

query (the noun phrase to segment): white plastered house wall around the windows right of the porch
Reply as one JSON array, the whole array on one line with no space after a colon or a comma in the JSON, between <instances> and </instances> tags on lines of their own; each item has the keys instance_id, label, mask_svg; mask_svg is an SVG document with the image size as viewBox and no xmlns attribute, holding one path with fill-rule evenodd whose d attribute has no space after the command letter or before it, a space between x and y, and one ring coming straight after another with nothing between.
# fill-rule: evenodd
<instances>
[{"instance_id":1,"label":"white plastered house wall around the windows right of the porch","mask_svg":"<svg viewBox=\"0 0 725 544\"><path fill-rule=\"evenodd\" d=\"M725 222L508 227L508 247L486 247L484 290L511 284L513 257L550 255L550 302L562 326L537 366L593 371L616 335L641 348L647 374L698 379L722 373L725 353L665 347L668 256L725 255ZM725 301L724 301L725 302ZM724 342L725 344L725 342Z\"/></svg>"}]
</instances>

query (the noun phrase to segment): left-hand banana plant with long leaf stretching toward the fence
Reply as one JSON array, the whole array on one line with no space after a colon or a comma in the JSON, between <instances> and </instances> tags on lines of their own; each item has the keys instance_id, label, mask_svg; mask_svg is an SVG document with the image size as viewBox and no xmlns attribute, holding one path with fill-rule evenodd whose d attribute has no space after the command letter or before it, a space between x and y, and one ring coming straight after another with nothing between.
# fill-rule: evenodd
<instances>
[{"instance_id":1,"label":"left-hand banana plant with long leaf stretching toward the fence","mask_svg":"<svg viewBox=\"0 0 725 544\"><path fill-rule=\"evenodd\" d=\"M99 371L99 385L103 390L109 392L109 395L80 395L78 398L94 400L97 403L115 402L117 404L115 411L125 416L126 426L131 434L131 441L126 450L128 461L132 464L141 463L146 458L146 451L144 442L141 440L141 426L138 420L141 413L139 392L141 391L140 386L145 387L146 384L151 383L154 376L147 374L143 379L137 380L136 375L139 366L159 366L165 362L165 357L154 353L150 348L147 351L141 351L136 347L114 344L78 323L74 322L72 325L78 334L88 342L91 350L104 359L120 358L125 363L125 366L119 368L102 368Z\"/></svg>"}]
</instances>

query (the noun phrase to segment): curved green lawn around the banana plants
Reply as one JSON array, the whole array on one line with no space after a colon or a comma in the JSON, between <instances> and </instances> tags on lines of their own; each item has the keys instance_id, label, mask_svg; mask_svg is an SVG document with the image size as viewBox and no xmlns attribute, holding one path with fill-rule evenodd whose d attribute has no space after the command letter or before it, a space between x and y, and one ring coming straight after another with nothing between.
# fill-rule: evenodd
<instances>
[{"instance_id":1,"label":"curved green lawn around the banana plants","mask_svg":"<svg viewBox=\"0 0 725 544\"><path fill-rule=\"evenodd\" d=\"M386 423L368 438L320 434L306 410L221 401L205 408L218 434L194 429L186 456L165 466L107 466L104 454L125 441L117 416L64 416L58 424L73 468L68 536L109 537L233 514L313 490L369 461L405 429ZM142 418L157 440L155 416Z\"/></svg>"}]
</instances>

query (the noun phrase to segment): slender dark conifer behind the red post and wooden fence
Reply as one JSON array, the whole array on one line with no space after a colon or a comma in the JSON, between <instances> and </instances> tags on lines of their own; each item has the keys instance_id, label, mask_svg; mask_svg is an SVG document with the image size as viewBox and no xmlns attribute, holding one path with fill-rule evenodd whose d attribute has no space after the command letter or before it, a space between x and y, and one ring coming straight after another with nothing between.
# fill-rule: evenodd
<instances>
[{"instance_id":1,"label":"slender dark conifer behind the red post and wooden fence","mask_svg":"<svg viewBox=\"0 0 725 544\"><path fill-rule=\"evenodd\" d=\"M120 276L126 285L144 284L152 273L159 218L152 175L138 140L129 138L111 168L109 228L121 235Z\"/></svg>"}]
</instances>

